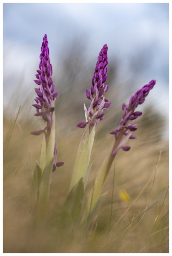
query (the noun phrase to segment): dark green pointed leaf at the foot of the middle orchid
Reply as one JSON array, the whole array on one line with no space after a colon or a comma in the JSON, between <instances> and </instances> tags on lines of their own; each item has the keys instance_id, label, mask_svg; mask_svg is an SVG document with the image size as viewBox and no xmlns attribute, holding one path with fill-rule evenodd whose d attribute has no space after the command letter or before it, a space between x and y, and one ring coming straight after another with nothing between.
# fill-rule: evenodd
<instances>
[{"instance_id":1,"label":"dark green pointed leaf at the foot of the middle orchid","mask_svg":"<svg viewBox=\"0 0 172 256\"><path fill-rule=\"evenodd\" d=\"M70 213L74 223L77 223L83 203L84 196L84 183L83 177L80 178L78 183L71 189L66 198L63 206Z\"/></svg>"}]
</instances>

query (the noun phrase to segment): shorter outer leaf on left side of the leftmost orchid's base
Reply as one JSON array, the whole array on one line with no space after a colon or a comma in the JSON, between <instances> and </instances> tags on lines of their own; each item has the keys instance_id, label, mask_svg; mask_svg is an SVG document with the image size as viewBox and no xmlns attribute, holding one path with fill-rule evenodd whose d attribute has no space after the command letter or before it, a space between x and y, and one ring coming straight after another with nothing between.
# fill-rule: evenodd
<instances>
[{"instance_id":1,"label":"shorter outer leaf on left side of the leftmost orchid's base","mask_svg":"<svg viewBox=\"0 0 172 256\"><path fill-rule=\"evenodd\" d=\"M42 168L39 163L36 161L36 165L34 168L34 174L32 178L32 186L31 186L31 211L33 212L34 207L37 203L38 189L40 186L40 178L41 178Z\"/></svg>"}]
</instances>

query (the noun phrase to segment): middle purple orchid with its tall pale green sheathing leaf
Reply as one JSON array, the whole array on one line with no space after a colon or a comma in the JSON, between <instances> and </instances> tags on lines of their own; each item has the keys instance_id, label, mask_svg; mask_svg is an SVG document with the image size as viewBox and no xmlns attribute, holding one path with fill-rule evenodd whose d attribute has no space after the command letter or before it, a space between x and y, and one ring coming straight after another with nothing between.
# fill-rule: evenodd
<instances>
[{"instance_id":1,"label":"middle purple orchid with its tall pale green sheathing leaf","mask_svg":"<svg viewBox=\"0 0 172 256\"><path fill-rule=\"evenodd\" d=\"M84 177L86 172L89 172L91 169L92 163L89 162L95 137L95 126L99 121L104 119L103 110L109 108L111 105L111 102L103 96L103 93L109 89L108 85L104 85L107 79L107 51L108 47L107 44L105 44L97 58L91 90L86 90L86 96L90 99L91 103L89 108L86 108L84 104L86 122L79 122L77 124L77 127L86 127L86 130L83 133L83 137L81 138L77 151L69 190L71 190L80 178Z\"/></svg>"}]
</instances>

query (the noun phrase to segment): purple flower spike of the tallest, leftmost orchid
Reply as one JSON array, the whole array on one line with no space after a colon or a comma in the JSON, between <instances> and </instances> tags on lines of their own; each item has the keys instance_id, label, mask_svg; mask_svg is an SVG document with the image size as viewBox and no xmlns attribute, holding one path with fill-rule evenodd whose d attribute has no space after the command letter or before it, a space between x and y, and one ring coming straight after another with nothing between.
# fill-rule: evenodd
<instances>
[{"instance_id":1,"label":"purple flower spike of the tallest, leftmost orchid","mask_svg":"<svg viewBox=\"0 0 172 256\"><path fill-rule=\"evenodd\" d=\"M47 126L40 131L33 131L32 134L39 135L47 130L47 135L51 132L52 127L52 112L54 111L53 100L58 96L58 93L54 93L54 84L52 81L52 64L49 59L49 47L47 35L43 37L43 43L40 54L40 65L35 75L38 80L34 80L40 87L35 88L37 97L34 99L37 104L33 104L37 110L35 116L42 116L46 121Z\"/></svg>"}]
</instances>

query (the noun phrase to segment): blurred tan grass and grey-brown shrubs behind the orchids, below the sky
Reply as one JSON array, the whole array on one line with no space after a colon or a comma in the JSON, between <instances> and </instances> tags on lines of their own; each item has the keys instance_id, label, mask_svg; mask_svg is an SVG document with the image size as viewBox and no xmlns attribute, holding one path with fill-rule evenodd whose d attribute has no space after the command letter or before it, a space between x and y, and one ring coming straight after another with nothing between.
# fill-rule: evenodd
<instances>
[{"instance_id":1,"label":"blurred tan grass and grey-brown shrubs behind the orchids, below the sky","mask_svg":"<svg viewBox=\"0 0 172 256\"><path fill-rule=\"evenodd\" d=\"M54 65L53 69L52 78L59 92L55 106L57 161L64 161L65 165L57 169L52 179L48 220L54 212L57 212L54 200L63 204L69 191L75 156L83 134L83 129L76 128L76 124L84 121L83 103L89 106L85 91L91 87L95 68L95 59L91 63L82 62L83 46L76 42L73 45L78 46L69 47L61 59L60 69L57 65ZM77 58L78 55L80 58ZM132 60L131 62L134 63ZM133 86L134 80L127 76L125 81L119 83L116 76L117 63L118 61L114 60L108 67L109 91L106 93L106 98L112 102L112 106L106 111L105 119L96 127L91 157L95 159L95 163L89 177L87 193L113 143L114 136L109 132L118 126L122 115L122 103L127 103L129 97L144 85ZM133 70L138 67L138 63L133 64ZM27 224L27 212L34 165L40 155L41 136L33 136L30 132L40 129L40 120L34 116L34 108L31 108L35 97L35 85L32 82L34 74L29 81L30 88L27 92L26 81L23 82L23 78L24 73L21 74L20 81L14 88L10 104L4 107L4 253L168 253L169 143L168 136L163 136L168 132L167 120L147 101L143 104L145 107L143 115L137 119L140 125L134 133L137 140L129 141L128 144L132 146L130 151L118 153L115 166L112 167L103 189L103 192L108 191L108 194L101 204L88 237L80 240L78 234L78 237L72 240L65 231L64 234L58 233L51 228L51 225L47 227L45 233L40 234L39 237L35 236L34 230ZM153 90L150 91L150 94L153 93ZM151 180L138 200L107 236L107 230L112 229L149 180L160 151L162 154L155 180ZM115 187L112 204L114 168ZM122 189L129 195L130 200L127 202L120 197ZM112 221L109 227L111 204Z\"/></svg>"}]
</instances>

